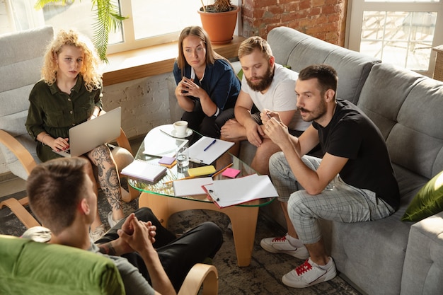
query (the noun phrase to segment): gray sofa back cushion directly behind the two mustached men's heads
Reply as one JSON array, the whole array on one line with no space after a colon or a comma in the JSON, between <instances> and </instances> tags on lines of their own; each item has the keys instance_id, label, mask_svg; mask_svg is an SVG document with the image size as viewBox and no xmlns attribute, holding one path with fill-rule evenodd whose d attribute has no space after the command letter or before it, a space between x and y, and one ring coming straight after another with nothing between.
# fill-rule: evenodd
<instances>
[{"instance_id":1,"label":"gray sofa back cushion directly behind the two mustached men's heads","mask_svg":"<svg viewBox=\"0 0 443 295\"><path fill-rule=\"evenodd\" d=\"M374 57L347 50L286 27L274 28L267 35L275 62L301 71L311 64L329 64L338 73L338 98L357 104L369 71L376 63Z\"/></svg>"}]
</instances>

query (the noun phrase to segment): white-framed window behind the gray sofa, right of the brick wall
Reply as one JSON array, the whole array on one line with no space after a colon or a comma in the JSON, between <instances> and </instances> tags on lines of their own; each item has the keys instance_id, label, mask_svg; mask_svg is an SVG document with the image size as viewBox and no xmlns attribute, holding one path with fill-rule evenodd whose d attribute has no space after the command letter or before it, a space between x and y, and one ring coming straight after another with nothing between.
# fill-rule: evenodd
<instances>
[{"instance_id":1,"label":"white-framed window behind the gray sofa, right of the brick wall","mask_svg":"<svg viewBox=\"0 0 443 295\"><path fill-rule=\"evenodd\" d=\"M436 33L443 28L442 6L439 0L353 0L348 47L431 76L432 47L443 44Z\"/></svg>"}]
</instances>

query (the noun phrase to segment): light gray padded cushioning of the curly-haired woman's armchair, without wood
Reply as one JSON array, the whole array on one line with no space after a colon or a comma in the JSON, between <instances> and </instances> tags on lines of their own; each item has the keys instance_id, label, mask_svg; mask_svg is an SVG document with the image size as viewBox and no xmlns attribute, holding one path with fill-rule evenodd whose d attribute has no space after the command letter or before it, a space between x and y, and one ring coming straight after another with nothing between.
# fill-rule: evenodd
<instances>
[{"instance_id":1,"label":"light gray padded cushioning of the curly-haired woman's armchair, without wood","mask_svg":"<svg viewBox=\"0 0 443 295\"><path fill-rule=\"evenodd\" d=\"M45 26L0 37L0 129L25 146L37 163L37 144L26 132L25 120L28 116L29 93L40 80L43 55L53 36L53 28ZM13 174L23 179L28 178L28 173L6 146L0 144L0 151Z\"/></svg>"}]
</instances>

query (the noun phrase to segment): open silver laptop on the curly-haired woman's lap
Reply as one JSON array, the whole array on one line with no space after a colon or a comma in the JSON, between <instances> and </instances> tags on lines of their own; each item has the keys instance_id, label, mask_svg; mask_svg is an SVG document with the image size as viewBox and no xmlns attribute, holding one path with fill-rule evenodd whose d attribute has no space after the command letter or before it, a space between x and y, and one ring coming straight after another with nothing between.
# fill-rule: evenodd
<instances>
[{"instance_id":1,"label":"open silver laptop on the curly-haired woman's lap","mask_svg":"<svg viewBox=\"0 0 443 295\"><path fill-rule=\"evenodd\" d=\"M81 156L119 137L121 125L122 108L118 107L69 129L69 149L53 151L64 157Z\"/></svg>"}]
</instances>

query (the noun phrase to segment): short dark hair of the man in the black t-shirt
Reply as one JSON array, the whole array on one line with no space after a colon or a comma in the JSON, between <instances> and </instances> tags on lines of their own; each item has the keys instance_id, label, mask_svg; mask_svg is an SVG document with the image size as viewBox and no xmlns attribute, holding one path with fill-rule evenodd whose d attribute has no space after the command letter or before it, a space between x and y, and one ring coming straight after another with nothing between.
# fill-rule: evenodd
<instances>
[{"instance_id":1,"label":"short dark hair of the man in the black t-shirt","mask_svg":"<svg viewBox=\"0 0 443 295\"><path fill-rule=\"evenodd\" d=\"M317 79L322 94L326 93L328 89L337 91L337 71L328 64L313 64L302 69L299 73L299 80L309 79Z\"/></svg>"}]
</instances>

